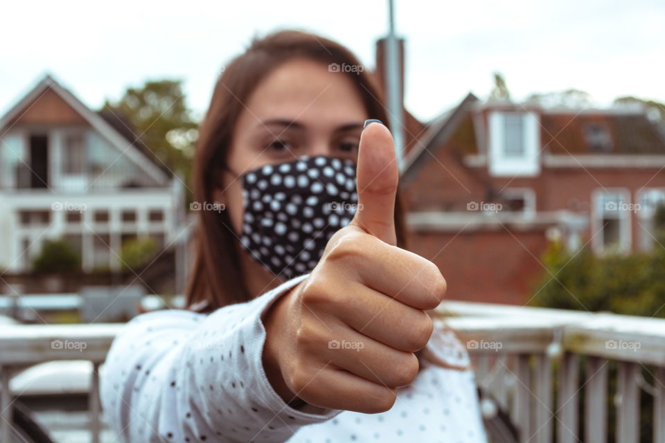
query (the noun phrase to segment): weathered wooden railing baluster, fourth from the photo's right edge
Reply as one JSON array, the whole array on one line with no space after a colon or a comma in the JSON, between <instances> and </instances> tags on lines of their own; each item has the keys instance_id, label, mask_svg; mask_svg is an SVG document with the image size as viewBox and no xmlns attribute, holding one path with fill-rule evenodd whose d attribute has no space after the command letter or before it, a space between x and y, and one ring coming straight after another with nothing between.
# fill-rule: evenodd
<instances>
[{"instance_id":1,"label":"weathered wooden railing baluster, fourth from the photo's right edge","mask_svg":"<svg viewBox=\"0 0 665 443\"><path fill-rule=\"evenodd\" d=\"M579 356L566 352L558 371L557 440L559 443L578 443L580 382Z\"/></svg>"}]
</instances>

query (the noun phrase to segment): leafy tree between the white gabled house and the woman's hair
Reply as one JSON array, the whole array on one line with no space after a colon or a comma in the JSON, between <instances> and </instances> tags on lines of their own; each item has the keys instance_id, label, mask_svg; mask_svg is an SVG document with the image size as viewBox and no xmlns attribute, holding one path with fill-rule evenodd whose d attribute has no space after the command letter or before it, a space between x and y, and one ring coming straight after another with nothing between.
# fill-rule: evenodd
<instances>
[{"instance_id":1,"label":"leafy tree between the white gabled house and the woman's hair","mask_svg":"<svg viewBox=\"0 0 665 443\"><path fill-rule=\"evenodd\" d=\"M148 81L143 87L130 87L118 102L106 100L100 112L119 118L121 124L126 121L156 163L184 177L190 188L198 123L186 105L181 80Z\"/></svg>"}]
</instances>

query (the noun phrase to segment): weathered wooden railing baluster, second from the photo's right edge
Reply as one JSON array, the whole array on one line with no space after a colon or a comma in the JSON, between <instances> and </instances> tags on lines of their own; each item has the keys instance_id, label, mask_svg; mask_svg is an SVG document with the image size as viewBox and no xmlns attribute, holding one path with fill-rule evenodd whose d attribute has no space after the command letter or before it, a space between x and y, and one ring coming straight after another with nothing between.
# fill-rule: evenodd
<instances>
[{"instance_id":1,"label":"weathered wooden railing baluster, second from the photo's right edge","mask_svg":"<svg viewBox=\"0 0 665 443\"><path fill-rule=\"evenodd\" d=\"M617 442L639 441L639 386L637 386L637 363L619 363L617 374Z\"/></svg>"}]
</instances>

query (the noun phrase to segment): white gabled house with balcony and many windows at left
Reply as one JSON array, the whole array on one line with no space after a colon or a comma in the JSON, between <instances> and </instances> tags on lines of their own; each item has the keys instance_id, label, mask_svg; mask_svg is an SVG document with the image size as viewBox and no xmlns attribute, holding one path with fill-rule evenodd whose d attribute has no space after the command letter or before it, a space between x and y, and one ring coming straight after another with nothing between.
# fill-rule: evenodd
<instances>
[{"instance_id":1,"label":"white gabled house with balcony and many windows at left","mask_svg":"<svg viewBox=\"0 0 665 443\"><path fill-rule=\"evenodd\" d=\"M0 118L0 269L29 271L49 238L67 239L84 271L120 269L128 239L168 246L182 184L146 149L46 75Z\"/></svg>"}]
</instances>

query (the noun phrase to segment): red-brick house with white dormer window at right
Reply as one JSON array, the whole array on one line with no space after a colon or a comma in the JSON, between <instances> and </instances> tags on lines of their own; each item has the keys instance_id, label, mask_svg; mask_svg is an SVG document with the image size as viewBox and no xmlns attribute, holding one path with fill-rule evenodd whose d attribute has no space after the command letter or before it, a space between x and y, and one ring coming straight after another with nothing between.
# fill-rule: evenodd
<instances>
[{"instance_id":1,"label":"red-brick house with white dormer window at right","mask_svg":"<svg viewBox=\"0 0 665 443\"><path fill-rule=\"evenodd\" d=\"M439 266L449 298L522 305L551 239L599 254L653 246L664 170L664 131L641 111L469 94L405 157L410 248Z\"/></svg>"}]
</instances>

